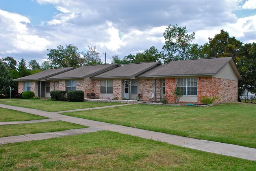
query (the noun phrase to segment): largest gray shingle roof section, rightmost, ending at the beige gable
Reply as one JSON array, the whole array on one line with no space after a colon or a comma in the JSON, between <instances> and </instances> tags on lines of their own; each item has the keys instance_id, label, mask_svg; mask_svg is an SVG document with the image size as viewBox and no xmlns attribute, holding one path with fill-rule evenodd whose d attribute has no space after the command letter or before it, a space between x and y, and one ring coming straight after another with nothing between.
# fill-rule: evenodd
<instances>
[{"instance_id":1,"label":"largest gray shingle roof section, rightmost, ending at the beige gable","mask_svg":"<svg viewBox=\"0 0 256 171\"><path fill-rule=\"evenodd\" d=\"M169 64L153 68L138 77L214 75L230 60L232 57L172 61Z\"/></svg>"}]
</instances>

